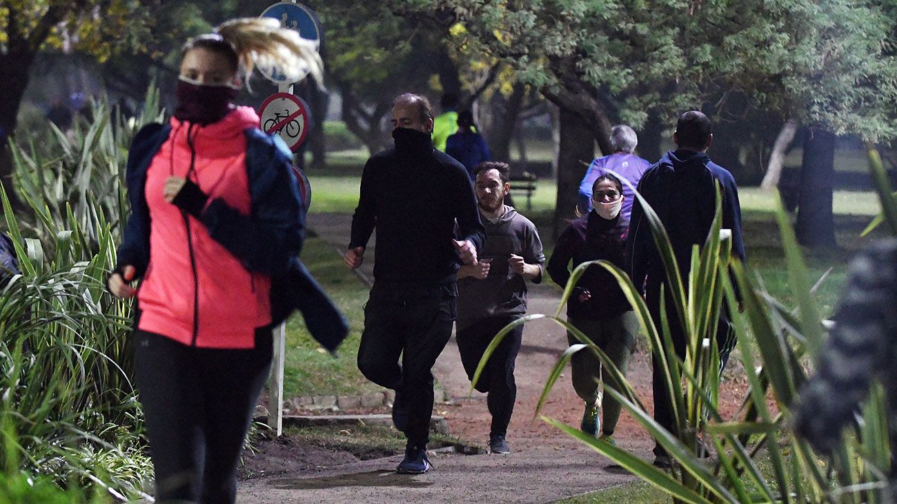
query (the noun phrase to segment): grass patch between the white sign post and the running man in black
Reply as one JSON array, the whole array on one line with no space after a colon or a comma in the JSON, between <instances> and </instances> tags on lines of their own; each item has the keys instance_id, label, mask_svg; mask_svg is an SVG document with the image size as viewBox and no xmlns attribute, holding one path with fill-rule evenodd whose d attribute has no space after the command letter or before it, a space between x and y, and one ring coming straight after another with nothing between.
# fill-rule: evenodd
<instances>
[{"instance_id":1,"label":"grass patch between the white sign post and the running man in black","mask_svg":"<svg viewBox=\"0 0 897 504\"><path fill-rule=\"evenodd\" d=\"M323 239L307 239L301 259L343 311L351 328L334 359L311 338L299 314L290 318L286 325L284 396L356 395L382 390L361 376L355 363L367 286L343 265L342 257Z\"/></svg>"}]
</instances>

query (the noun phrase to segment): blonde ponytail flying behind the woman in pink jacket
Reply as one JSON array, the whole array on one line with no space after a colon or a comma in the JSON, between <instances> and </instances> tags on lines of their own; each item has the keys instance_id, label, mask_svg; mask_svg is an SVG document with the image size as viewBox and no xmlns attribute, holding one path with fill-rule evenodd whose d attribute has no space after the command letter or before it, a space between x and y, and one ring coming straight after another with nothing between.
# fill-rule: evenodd
<instances>
[{"instance_id":1,"label":"blonde ponytail flying behind the woman in pink jacket","mask_svg":"<svg viewBox=\"0 0 897 504\"><path fill-rule=\"evenodd\" d=\"M239 18L223 22L215 31L231 45L248 80L256 66L274 68L289 82L310 74L324 83L323 63L314 44L299 32L281 28L274 18Z\"/></svg>"}]
</instances>

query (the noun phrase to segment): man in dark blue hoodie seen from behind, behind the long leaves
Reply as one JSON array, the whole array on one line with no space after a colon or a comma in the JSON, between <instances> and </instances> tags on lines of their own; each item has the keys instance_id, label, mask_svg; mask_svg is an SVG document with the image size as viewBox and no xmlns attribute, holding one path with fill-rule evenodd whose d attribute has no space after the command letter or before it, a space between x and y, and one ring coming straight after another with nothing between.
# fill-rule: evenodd
<instances>
[{"instance_id":1,"label":"man in dark blue hoodie seen from behind, behind the long leaves","mask_svg":"<svg viewBox=\"0 0 897 504\"><path fill-rule=\"evenodd\" d=\"M732 232L732 254L745 261L745 245L741 237L741 206L735 178L727 169L710 161L707 148L713 141L710 119L697 110L679 116L673 141L678 147L666 154L642 176L637 190L658 213L673 246L680 274L687 282L692 265L692 247L703 247L716 213L716 183L722 193L722 229ZM651 237L649 222L641 204L632 205L627 269L632 282L645 295L651 317L660 320L660 291L670 291L658 248ZM688 287L686 286L686 289ZM685 335L673 300L665 295L666 317L676 353L685 356ZM720 316L717 341L721 366L735 346L726 313ZM666 394L658 361L654 361L654 418L666 430L674 429L673 407ZM668 467L666 451L654 448L655 465Z\"/></svg>"}]
</instances>

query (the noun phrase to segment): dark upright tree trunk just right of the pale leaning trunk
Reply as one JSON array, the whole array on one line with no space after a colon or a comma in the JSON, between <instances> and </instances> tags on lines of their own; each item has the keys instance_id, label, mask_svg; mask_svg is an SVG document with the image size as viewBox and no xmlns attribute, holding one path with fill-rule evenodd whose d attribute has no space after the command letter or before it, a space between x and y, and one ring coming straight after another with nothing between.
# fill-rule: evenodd
<instances>
[{"instance_id":1,"label":"dark upright tree trunk just right of the pale leaning trunk","mask_svg":"<svg viewBox=\"0 0 897 504\"><path fill-rule=\"evenodd\" d=\"M797 241L806 247L838 247L832 214L835 135L811 128L804 143L797 203Z\"/></svg>"}]
</instances>

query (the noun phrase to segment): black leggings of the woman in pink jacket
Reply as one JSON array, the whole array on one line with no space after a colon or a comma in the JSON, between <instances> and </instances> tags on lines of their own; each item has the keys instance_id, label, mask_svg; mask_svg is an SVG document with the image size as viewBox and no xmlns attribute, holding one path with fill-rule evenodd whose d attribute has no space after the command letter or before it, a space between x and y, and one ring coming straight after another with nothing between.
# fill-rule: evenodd
<instances>
[{"instance_id":1,"label":"black leggings of the woman in pink jacket","mask_svg":"<svg viewBox=\"0 0 897 504\"><path fill-rule=\"evenodd\" d=\"M156 502L232 503L237 465L271 367L270 328L247 350L190 347L135 333L135 374L144 405Z\"/></svg>"}]
</instances>

